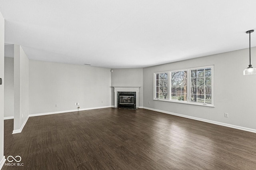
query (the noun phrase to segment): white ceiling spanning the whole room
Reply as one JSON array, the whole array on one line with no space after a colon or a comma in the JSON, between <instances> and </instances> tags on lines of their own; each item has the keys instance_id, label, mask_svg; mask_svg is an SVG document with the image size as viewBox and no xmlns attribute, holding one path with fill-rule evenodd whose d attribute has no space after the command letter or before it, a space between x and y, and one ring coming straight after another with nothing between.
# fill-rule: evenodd
<instances>
[{"instance_id":1,"label":"white ceiling spanning the whole room","mask_svg":"<svg viewBox=\"0 0 256 170\"><path fill-rule=\"evenodd\" d=\"M29 59L106 68L248 48L255 7L256 0L0 0L5 42L22 45Z\"/></svg>"}]
</instances>

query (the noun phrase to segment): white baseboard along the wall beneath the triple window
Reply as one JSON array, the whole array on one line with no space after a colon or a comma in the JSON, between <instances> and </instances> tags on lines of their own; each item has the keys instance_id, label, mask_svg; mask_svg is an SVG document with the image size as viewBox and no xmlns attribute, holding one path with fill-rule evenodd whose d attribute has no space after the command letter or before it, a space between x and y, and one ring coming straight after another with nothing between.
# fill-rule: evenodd
<instances>
[{"instance_id":1,"label":"white baseboard along the wall beneath the triple window","mask_svg":"<svg viewBox=\"0 0 256 170\"><path fill-rule=\"evenodd\" d=\"M185 117L185 118L188 118L188 119L194 119L194 120L197 120L197 121L212 123L212 124L215 124L215 125L221 125L221 126L224 126L224 127L236 128L236 129L239 129L239 130L245 130L245 131L248 131L248 132L256 133L256 129L252 129L252 128L246 128L246 127L240 127L240 126L236 126L236 125L230 125L230 124L227 124L227 123L221 123L221 122L211 121L211 120L207 120L207 119L201 119L201 118L197 118L197 117L181 115L181 114L178 114L178 113L172 113L172 112L168 112L168 111L161 111L161 110L158 110L158 109L152 109L152 108L148 108L148 107L143 107L143 108L151 110L151 111L157 111L157 112L161 112L161 113L166 113L166 114L169 114L169 115Z\"/></svg>"}]
</instances>

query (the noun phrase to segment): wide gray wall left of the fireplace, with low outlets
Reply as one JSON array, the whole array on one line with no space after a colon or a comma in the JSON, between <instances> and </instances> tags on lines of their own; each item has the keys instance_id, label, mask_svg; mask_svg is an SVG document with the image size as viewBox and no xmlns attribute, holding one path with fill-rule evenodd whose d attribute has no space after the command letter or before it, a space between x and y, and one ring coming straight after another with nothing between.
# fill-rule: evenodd
<instances>
[{"instance_id":1,"label":"wide gray wall left of the fireplace, with low outlets","mask_svg":"<svg viewBox=\"0 0 256 170\"><path fill-rule=\"evenodd\" d=\"M110 107L110 86L110 69L29 61L30 114Z\"/></svg>"}]
</instances>

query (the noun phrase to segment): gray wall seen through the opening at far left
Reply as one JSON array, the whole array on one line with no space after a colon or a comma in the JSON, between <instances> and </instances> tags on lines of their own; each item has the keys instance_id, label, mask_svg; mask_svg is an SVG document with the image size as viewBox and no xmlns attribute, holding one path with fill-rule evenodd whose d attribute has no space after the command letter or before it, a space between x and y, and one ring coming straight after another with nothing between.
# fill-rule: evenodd
<instances>
[{"instance_id":1,"label":"gray wall seen through the opening at far left","mask_svg":"<svg viewBox=\"0 0 256 170\"><path fill-rule=\"evenodd\" d=\"M13 116L14 116L14 58L4 57L4 117L13 117Z\"/></svg>"}]
</instances>

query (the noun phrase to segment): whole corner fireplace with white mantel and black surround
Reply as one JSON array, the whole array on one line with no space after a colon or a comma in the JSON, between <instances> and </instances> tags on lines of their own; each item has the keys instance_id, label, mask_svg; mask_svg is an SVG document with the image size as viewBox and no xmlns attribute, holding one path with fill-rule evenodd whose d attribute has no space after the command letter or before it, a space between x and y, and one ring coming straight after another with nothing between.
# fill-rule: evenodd
<instances>
[{"instance_id":1,"label":"whole corner fireplace with white mantel and black surround","mask_svg":"<svg viewBox=\"0 0 256 170\"><path fill-rule=\"evenodd\" d=\"M114 108L138 109L139 88L139 86L114 87Z\"/></svg>"}]
</instances>

